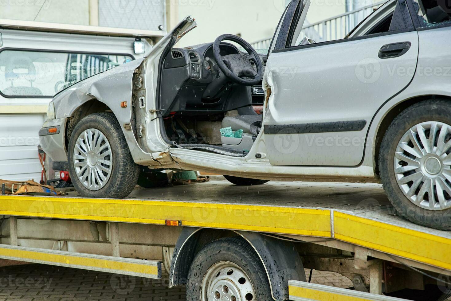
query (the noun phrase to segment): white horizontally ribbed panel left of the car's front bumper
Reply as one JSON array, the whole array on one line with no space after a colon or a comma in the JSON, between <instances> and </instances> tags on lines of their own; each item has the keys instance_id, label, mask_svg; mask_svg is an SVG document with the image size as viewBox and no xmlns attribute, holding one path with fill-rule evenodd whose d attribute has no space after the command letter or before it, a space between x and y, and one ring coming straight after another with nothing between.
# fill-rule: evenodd
<instances>
[{"instance_id":1,"label":"white horizontally ribbed panel left of the car's front bumper","mask_svg":"<svg viewBox=\"0 0 451 301\"><path fill-rule=\"evenodd\" d=\"M38 131L44 114L0 114L0 179L41 180Z\"/></svg>"}]
</instances>

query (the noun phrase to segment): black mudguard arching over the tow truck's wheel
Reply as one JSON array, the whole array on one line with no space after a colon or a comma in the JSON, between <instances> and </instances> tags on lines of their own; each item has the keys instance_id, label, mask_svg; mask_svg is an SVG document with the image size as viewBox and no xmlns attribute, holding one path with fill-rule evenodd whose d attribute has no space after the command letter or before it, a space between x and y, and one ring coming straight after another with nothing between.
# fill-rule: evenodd
<instances>
[{"instance_id":1,"label":"black mudguard arching over the tow truck's wheel","mask_svg":"<svg viewBox=\"0 0 451 301\"><path fill-rule=\"evenodd\" d=\"M288 300L288 280L306 281L301 258L292 242L255 232L185 227L172 255L170 287L185 284L198 251L222 237L241 237L252 246L265 267L274 300ZM179 260L180 258L184 260Z\"/></svg>"}]
</instances>

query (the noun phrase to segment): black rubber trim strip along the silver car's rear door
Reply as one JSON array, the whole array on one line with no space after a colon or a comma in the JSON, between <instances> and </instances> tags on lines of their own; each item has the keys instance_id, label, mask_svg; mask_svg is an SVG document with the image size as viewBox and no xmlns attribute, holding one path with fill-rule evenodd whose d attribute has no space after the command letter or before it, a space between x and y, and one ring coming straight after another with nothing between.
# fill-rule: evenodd
<instances>
[{"instance_id":1,"label":"black rubber trim strip along the silver car's rear door","mask_svg":"<svg viewBox=\"0 0 451 301\"><path fill-rule=\"evenodd\" d=\"M366 126L366 120L337 121L323 123L265 125L265 134L311 134L327 132L359 132Z\"/></svg>"}]
</instances>

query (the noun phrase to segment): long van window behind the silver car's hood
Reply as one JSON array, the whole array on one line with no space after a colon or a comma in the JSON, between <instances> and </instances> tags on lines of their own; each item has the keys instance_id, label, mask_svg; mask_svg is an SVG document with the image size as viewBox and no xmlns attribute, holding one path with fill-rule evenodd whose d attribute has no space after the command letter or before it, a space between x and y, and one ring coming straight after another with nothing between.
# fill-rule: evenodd
<instances>
[{"instance_id":1,"label":"long van window behind the silver car's hood","mask_svg":"<svg viewBox=\"0 0 451 301\"><path fill-rule=\"evenodd\" d=\"M129 55L3 50L0 92L6 97L53 97L66 87L133 60Z\"/></svg>"}]
</instances>

